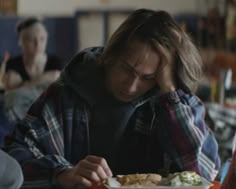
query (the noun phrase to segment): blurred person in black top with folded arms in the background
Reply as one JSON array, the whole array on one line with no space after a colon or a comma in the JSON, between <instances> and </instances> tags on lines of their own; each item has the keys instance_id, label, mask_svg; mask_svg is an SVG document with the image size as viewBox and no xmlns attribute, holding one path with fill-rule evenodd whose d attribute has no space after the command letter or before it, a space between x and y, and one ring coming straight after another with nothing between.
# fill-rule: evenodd
<instances>
[{"instance_id":1,"label":"blurred person in black top with folded arms in the background","mask_svg":"<svg viewBox=\"0 0 236 189\"><path fill-rule=\"evenodd\" d=\"M29 106L61 72L62 63L46 53L48 34L43 23L34 17L17 26L22 55L6 63L4 109L11 121L22 119Z\"/></svg>"}]
</instances>

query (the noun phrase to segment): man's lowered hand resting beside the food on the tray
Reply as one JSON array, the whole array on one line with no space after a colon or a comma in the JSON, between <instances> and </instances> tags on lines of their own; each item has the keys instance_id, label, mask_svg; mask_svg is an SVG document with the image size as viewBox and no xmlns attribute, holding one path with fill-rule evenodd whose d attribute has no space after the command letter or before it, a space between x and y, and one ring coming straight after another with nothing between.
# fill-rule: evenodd
<instances>
[{"instance_id":1,"label":"man's lowered hand resting beside the food on the tray","mask_svg":"<svg viewBox=\"0 0 236 189\"><path fill-rule=\"evenodd\" d=\"M104 158L89 155L73 168L59 174L56 183L68 189L81 185L91 187L111 176L112 172Z\"/></svg>"}]
</instances>

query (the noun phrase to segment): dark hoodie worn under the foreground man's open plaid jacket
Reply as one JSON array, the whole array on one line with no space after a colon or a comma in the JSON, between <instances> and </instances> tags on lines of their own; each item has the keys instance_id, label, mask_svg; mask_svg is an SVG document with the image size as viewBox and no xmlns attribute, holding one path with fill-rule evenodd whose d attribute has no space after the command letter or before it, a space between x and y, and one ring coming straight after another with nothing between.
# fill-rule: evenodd
<instances>
[{"instance_id":1,"label":"dark hoodie worn under the foreground man's open plaid jacket","mask_svg":"<svg viewBox=\"0 0 236 189\"><path fill-rule=\"evenodd\" d=\"M124 169L121 168L119 162L123 162L126 169L132 167L131 162L134 167L137 165L136 160L131 157L129 159L128 156L133 150L136 151L134 154L137 154L137 151L143 152L142 147L139 146L143 139L137 141L140 138L138 139L137 136L135 139L133 138L134 122L132 122L132 117L135 117L136 110L142 105L148 104L149 106L148 102L156 93L154 90L149 91L129 103L115 99L105 87L104 65L98 63L102 52L103 48L85 49L66 66L62 78L90 107L90 154L106 158L114 173L115 170L119 172L119 169ZM152 120L152 116L153 114L150 113L150 120ZM129 132L132 136L128 134ZM147 140L146 137L145 140ZM135 158L142 162L145 161L144 156L146 154ZM127 171L135 172L136 170L133 168ZM145 172L140 168L138 170ZM146 172L150 172L150 170L146 170Z\"/></svg>"}]
</instances>

